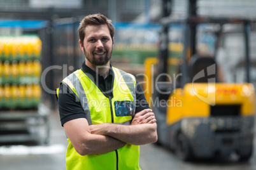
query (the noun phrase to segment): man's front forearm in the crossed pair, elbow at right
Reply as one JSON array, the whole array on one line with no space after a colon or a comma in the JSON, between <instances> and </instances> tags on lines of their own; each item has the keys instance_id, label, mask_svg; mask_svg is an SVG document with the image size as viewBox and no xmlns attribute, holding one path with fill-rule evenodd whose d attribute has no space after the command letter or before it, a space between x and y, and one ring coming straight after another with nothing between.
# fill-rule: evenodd
<instances>
[{"instance_id":1,"label":"man's front forearm in the crossed pair, elbow at right","mask_svg":"<svg viewBox=\"0 0 256 170\"><path fill-rule=\"evenodd\" d=\"M92 131L92 133L104 134L124 141L132 145L145 145L157 141L157 124L136 124L136 125L120 125L120 124L100 124L100 131Z\"/></svg>"}]
</instances>

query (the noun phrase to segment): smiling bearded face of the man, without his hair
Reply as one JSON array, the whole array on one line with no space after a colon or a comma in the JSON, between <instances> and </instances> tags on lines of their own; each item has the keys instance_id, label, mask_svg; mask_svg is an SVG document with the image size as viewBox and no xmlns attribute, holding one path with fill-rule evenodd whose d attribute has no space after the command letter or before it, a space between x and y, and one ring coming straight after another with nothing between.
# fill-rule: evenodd
<instances>
[{"instance_id":1,"label":"smiling bearded face of the man, without his hair","mask_svg":"<svg viewBox=\"0 0 256 170\"><path fill-rule=\"evenodd\" d=\"M113 50L113 40L107 25L88 25L85 27L83 45L80 42L85 63L90 67L109 65Z\"/></svg>"}]
</instances>

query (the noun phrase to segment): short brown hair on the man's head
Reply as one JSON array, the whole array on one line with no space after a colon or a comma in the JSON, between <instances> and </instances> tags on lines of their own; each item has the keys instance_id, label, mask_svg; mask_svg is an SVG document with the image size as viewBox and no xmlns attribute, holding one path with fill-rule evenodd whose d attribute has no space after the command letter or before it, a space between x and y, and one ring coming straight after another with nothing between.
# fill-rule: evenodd
<instances>
[{"instance_id":1,"label":"short brown hair on the man's head","mask_svg":"<svg viewBox=\"0 0 256 170\"><path fill-rule=\"evenodd\" d=\"M92 15L85 16L83 20L80 22L80 26L78 27L78 35L83 44L83 39L85 39L85 27L87 25L108 25L108 30L110 30L111 39L113 39L115 34L115 27L111 23L111 20L101 13L96 13Z\"/></svg>"}]
</instances>

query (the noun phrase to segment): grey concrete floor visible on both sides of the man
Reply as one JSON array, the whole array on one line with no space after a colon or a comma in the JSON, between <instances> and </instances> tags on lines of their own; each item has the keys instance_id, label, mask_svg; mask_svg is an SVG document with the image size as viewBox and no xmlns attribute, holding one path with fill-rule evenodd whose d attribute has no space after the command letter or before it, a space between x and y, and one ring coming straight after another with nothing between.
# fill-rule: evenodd
<instances>
[{"instance_id":1,"label":"grey concrete floor visible on both sides of the man","mask_svg":"<svg viewBox=\"0 0 256 170\"><path fill-rule=\"evenodd\" d=\"M1 154L0 147L0 170L64 170L66 169L65 155L68 141L66 134L60 126L57 111L50 114L50 145L48 147L28 147L27 154L24 148L14 146L6 148L5 154ZM256 145L255 145L256 146ZM17 152L17 150L22 150ZM36 152L38 154L36 154ZM17 154L18 153L18 154ZM41 153L41 154L40 154ZM149 144L141 146L140 166L143 170L256 170L256 150L249 162L238 163L223 160L200 160L196 162L182 162L177 159L173 152L164 147Z\"/></svg>"}]
</instances>

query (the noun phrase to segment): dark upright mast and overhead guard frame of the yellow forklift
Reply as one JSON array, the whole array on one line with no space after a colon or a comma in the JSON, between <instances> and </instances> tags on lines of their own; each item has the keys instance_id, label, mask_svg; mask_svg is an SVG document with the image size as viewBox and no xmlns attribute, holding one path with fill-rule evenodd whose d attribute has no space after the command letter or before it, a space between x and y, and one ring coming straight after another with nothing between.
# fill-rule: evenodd
<instances>
[{"instance_id":1,"label":"dark upright mast and overhead guard frame of the yellow forklift","mask_svg":"<svg viewBox=\"0 0 256 170\"><path fill-rule=\"evenodd\" d=\"M172 0L162 0L163 19L171 15ZM167 19L168 20L168 19ZM188 0L188 16L185 20L178 22L162 22L162 31L160 32L160 50L159 50L159 67L158 74L162 74L160 81L167 81L167 68L169 57L169 24L180 23L184 25L183 29L183 65L181 65L181 82L180 86L183 87L188 82L188 64L193 56L197 53L197 25L199 23L219 23L220 26L224 23L242 23L244 27L244 42L245 42L245 69L246 69L246 82L250 82L250 20L239 20L236 18L203 18L197 15L197 0ZM220 29L219 34L222 29ZM215 50L216 51L216 50Z\"/></svg>"}]
</instances>

